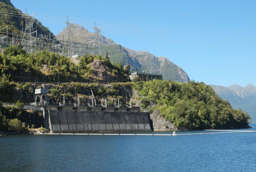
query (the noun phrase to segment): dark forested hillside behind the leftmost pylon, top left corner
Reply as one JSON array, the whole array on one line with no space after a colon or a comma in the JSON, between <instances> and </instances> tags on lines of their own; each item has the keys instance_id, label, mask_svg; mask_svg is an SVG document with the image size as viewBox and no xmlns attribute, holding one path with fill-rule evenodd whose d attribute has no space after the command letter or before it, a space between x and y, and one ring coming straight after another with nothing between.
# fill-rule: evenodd
<instances>
[{"instance_id":1,"label":"dark forested hillside behind the leftmost pylon, top left corner","mask_svg":"<svg viewBox=\"0 0 256 172\"><path fill-rule=\"evenodd\" d=\"M9 32L11 33L14 31L15 33L21 33L22 25L23 25L23 31L25 31L25 18L21 18L22 11L15 8L10 0L0 0L0 29L4 28L9 24ZM43 26L40 21L35 19L34 21L34 28L37 26L37 32L49 35L50 30ZM2 30L2 32L6 32L7 29L5 28ZM53 38L54 35L51 33L51 38Z\"/></svg>"}]
</instances>

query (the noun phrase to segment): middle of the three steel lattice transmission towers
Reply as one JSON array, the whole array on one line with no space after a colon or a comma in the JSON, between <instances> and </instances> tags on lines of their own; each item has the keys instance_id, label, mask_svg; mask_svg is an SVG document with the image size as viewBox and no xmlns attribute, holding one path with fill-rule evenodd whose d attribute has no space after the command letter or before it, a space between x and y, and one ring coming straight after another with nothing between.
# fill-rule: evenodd
<instances>
[{"instance_id":1,"label":"middle of the three steel lattice transmission towers","mask_svg":"<svg viewBox=\"0 0 256 172\"><path fill-rule=\"evenodd\" d=\"M67 16L67 21L65 23L67 24L66 32L65 32L66 41L63 44L62 55L72 56L72 55L75 55L75 41L74 41L72 28L75 28L76 26L74 23L70 23L68 21L68 16Z\"/></svg>"}]
</instances>

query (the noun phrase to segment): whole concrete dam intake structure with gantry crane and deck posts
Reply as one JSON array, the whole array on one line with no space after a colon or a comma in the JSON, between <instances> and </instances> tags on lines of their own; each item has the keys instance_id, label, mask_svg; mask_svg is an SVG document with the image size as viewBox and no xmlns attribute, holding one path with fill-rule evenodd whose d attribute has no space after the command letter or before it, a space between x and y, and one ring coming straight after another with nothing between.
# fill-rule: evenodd
<instances>
[{"instance_id":1,"label":"whole concrete dam intake structure with gantry crane and deck posts","mask_svg":"<svg viewBox=\"0 0 256 172\"><path fill-rule=\"evenodd\" d=\"M95 133L152 131L149 113L131 105L48 103L47 89L35 90L36 101L25 109L43 112L44 128L50 133ZM38 98L40 99L37 102Z\"/></svg>"}]
</instances>

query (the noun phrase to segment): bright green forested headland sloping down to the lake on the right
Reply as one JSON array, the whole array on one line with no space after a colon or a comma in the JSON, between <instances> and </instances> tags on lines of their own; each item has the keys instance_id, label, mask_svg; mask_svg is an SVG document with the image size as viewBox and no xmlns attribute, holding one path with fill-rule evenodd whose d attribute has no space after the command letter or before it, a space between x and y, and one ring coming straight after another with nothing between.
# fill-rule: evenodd
<instances>
[{"instance_id":1,"label":"bright green forested headland sloping down to the lake on the right","mask_svg":"<svg viewBox=\"0 0 256 172\"><path fill-rule=\"evenodd\" d=\"M250 116L244 111L232 109L203 82L178 83L153 80L135 82L139 96L144 96L141 106L148 108L150 101L157 106L165 119L178 129L247 128Z\"/></svg>"}]
</instances>

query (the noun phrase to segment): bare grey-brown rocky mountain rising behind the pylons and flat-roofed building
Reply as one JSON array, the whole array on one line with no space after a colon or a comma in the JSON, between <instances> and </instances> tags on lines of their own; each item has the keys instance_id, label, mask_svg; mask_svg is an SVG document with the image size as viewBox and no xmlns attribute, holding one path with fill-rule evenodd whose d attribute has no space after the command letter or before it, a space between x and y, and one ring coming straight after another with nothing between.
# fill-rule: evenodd
<instances>
[{"instance_id":1,"label":"bare grey-brown rocky mountain rising behind the pylons and flat-roofed building","mask_svg":"<svg viewBox=\"0 0 256 172\"><path fill-rule=\"evenodd\" d=\"M72 27L72 32L76 41L87 39L89 47L92 47L94 33L89 32L81 25ZM66 28L64 28L57 36L64 35L64 39L67 36ZM62 39L62 38L59 38ZM74 38L75 39L75 38ZM106 52L110 55L110 61L115 63L121 62L123 65L131 65L132 71L145 70L151 73L161 73L166 80L174 80L178 82L188 82L190 79L186 72L179 66L172 63L165 57L156 57L146 51L134 51L129 48L116 44L113 40L100 35L101 49L103 54ZM82 41L86 43L86 40Z\"/></svg>"}]
</instances>

